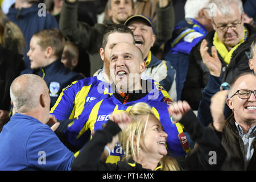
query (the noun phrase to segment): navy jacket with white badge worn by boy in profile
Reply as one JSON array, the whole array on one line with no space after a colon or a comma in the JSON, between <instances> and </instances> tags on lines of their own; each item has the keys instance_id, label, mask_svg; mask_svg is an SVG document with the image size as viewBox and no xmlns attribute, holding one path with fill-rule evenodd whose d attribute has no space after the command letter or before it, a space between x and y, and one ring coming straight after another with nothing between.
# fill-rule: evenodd
<instances>
[{"instance_id":1,"label":"navy jacket with white badge worn by boy in profile","mask_svg":"<svg viewBox=\"0 0 256 182\"><path fill-rule=\"evenodd\" d=\"M51 97L51 107L55 104L65 86L68 86L73 81L84 78L79 73L72 72L68 68L65 68L64 64L61 63L60 60L56 60L44 68L39 68L36 70L31 68L25 69L20 73L20 75L26 73L38 75L42 77L44 81L46 81L49 88L49 96Z\"/></svg>"}]
</instances>

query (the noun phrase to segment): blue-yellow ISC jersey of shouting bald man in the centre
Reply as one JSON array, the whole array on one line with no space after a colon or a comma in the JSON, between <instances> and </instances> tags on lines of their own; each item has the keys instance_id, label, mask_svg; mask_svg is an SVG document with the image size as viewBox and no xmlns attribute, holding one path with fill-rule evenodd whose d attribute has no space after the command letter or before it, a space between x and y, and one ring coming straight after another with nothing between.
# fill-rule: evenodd
<instances>
[{"instance_id":1,"label":"blue-yellow ISC jersey of shouting bald man in the centre","mask_svg":"<svg viewBox=\"0 0 256 182\"><path fill-rule=\"evenodd\" d=\"M95 99L86 106L86 109L77 117L72 123L69 124L64 131L68 141L78 147L82 147L88 140L86 131L102 129L102 124L106 123L111 113L119 113L129 110L137 102L146 102L154 111L156 118L162 123L164 131L168 134L167 147L168 151L173 156L184 156L190 151L188 141L183 133L183 125L180 123L172 122L167 107L164 102L164 95L166 90L162 89L157 82L154 88L146 96L139 98L136 101L130 101L123 104L119 101L114 94L102 99ZM121 160L123 155L122 147L116 144L112 150L107 162L117 162Z\"/></svg>"}]
</instances>

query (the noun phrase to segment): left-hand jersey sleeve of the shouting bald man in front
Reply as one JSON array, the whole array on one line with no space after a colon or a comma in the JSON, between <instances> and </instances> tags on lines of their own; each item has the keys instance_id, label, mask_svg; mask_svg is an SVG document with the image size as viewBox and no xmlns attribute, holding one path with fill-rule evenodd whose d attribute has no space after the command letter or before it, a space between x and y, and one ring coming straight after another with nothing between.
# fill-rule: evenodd
<instances>
[{"instance_id":1,"label":"left-hand jersey sleeve of the shouting bald man in front","mask_svg":"<svg viewBox=\"0 0 256 182\"><path fill-rule=\"evenodd\" d=\"M81 148L90 139L88 119L96 100L92 101L82 113L70 123L64 131L65 137L72 145Z\"/></svg>"}]
</instances>

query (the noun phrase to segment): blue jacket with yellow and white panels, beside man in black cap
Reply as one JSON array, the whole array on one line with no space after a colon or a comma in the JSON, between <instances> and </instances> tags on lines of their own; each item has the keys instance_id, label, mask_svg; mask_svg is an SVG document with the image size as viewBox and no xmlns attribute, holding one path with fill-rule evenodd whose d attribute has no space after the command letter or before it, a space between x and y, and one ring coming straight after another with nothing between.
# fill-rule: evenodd
<instances>
[{"instance_id":1,"label":"blue jacket with yellow and white panels, beside man in black cap","mask_svg":"<svg viewBox=\"0 0 256 182\"><path fill-rule=\"evenodd\" d=\"M164 59L170 61L177 72L177 100L181 99L181 92L188 71L190 51L205 35L207 35L207 31L199 22L187 18L177 24L172 39L166 44Z\"/></svg>"}]
</instances>

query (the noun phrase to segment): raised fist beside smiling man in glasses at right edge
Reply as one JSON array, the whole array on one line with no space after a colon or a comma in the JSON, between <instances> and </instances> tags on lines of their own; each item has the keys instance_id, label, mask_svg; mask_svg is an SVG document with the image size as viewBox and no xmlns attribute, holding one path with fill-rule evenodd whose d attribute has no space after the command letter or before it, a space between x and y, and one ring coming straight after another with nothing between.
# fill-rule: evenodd
<instances>
[{"instance_id":1,"label":"raised fist beside smiling man in glasses at right edge","mask_svg":"<svg viewBox=\"0 0 256 182\"><path fill-rule=\"evenodd\" d=\"M210 99L210 113L213 118L213 127L217 131L222 132L225 126L224 108L226 103L226 97L229 90L222 90L214 94Z\"/></svg>"}]
</instances>

